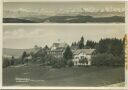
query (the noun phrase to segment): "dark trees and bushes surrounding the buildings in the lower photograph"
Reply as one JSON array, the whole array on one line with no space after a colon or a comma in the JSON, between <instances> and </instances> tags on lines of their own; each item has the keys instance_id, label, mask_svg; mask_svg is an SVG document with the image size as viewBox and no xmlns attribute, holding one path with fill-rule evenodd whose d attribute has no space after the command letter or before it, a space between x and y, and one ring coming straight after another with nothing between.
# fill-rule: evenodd
<instances>
[{"instance_id":1,"label":"dark trees and bushes surrounding the buildings in the lower photograph","mask_svg":"<svg viewBox=\"0 0 128 90\"><path fill-rule=\"evenodd\" d=\"M124 44L125 39L117 39L117 38L106 38L101 39L99 42L95 42L92 40L87 40L85 43L84 37L77 42L73 42L71 46L67 46L64 50L63 57L56 58L53 55L47 53L47 50L50 48L46 45L44 48L40 48L37 53L30 52L29 54L26 51L23 52L21 58L18 61L20 64L28 63L26 59L27 56L32 56L32 60L30 63L39 63L42 65L49 65L52 67L66 67L73 66L73 52L71 50L72 47L76 47L77 49L95 49L92 55L92 65L95 66L124 66L125 63L125 52L124 52ZM3 66L7 67L9 65L13 65L16 60L14 57L11 59L12 63L10 64L10 60L7 58L3 58Z\"/></svg>"}]
</instances>

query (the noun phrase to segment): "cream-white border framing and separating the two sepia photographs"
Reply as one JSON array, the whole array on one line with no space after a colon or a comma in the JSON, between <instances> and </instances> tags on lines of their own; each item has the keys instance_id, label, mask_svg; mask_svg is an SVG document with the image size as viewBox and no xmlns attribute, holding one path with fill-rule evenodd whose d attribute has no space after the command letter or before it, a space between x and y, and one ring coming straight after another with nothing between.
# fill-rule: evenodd
<instances>
[{"instance_id":1,"label":"cream-white border framing and separating the two sepia photographs","mask_svg":"<svg viewBox=\"0 0 128 90\"><path fill-rule=\"evenodd\" d=\"M1 1L5 1L5 0L1 0ZM6 0L7 1L7 0ZM15 2L15 0L8 0L9 2ZM18 0L19 2L24 2L24 0ZM25 2L45 2L45 1L50 1L50 2L72 2L72 1L83 1L83 2L86 2L86 1L127 1L127 0L25 0ZM125 2L126 3L126 2ZM1 16L0 17L3 17L3 3L0 3L0 8L1 8ZM128 2L127 2L127 7L128 7ZM127 11L127 10L126 10ZM126 12L125 11L125 12ZM128 15L128 14L126 14ZM128 18L126 19L126 22L128 22ZM2 23L2 18L0 20L0 47L2 47L2 27L3 25L63 25L63 24L50 24L50 23L13 23L13 24L10 24L10 23L6 23L6 24L3 24ZM105 23L98 23L98 24L95 24L95 23L90 23L90 24L76 24L76 23L72 23L70 25L103 25ZM64 24L64 25L69 25L69 24ZM107 23L107 25L115 25L115 23ZM128 25L125 23L125 27L128 27ZM126 28L127 30L128 28ZM127 32L128 33L128 32ZM0 48L0 55L2 55L2 48ZM2 66L2 57L1 57L1 61L0 61L0 66ZM47 87L38 87L38 86L35 86L35 87L32 87L32 86L2 86L2 68L0 68L0 87L1 89L96 89L96 90L99 90L99 89L114 89L114 90L117 90L117 89L124 89L126 90L126 86L128 85L128 80L126 77L125 80L126 80L126 86L125 87L52 87L52 86L47 86ZM128 76L128 71L127 73L125 73L125 76Z\"/></svg>"}]
</instances>

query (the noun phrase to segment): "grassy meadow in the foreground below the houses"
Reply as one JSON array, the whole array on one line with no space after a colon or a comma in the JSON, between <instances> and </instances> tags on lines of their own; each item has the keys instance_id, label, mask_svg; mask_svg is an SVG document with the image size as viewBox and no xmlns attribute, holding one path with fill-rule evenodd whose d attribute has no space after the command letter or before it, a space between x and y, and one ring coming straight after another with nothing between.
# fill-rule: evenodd
<instances>
[{"instance_id":1,"label":"grassy meadow in the foreground below the houses","mask_svg":"<svg viewBox=\"0 0 128 90\"><path fill-rule=\"evenodd\" d=\"M28 80L17 82L16 78ZM5 86L105 86L124 82L124 67L67 67L55 69L39 65L3 69Z\"/></svg>"}]
</instances>

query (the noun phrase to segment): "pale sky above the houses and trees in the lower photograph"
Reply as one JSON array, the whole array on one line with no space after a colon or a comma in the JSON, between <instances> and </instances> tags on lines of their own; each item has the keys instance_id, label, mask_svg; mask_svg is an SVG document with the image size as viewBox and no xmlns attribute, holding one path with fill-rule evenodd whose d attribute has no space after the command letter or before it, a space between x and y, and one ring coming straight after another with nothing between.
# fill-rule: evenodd
<instances>
[{"instance_id":1,"label":"pale sky above the houses and trees in the lower photograph","mask_svg":"<svg viewBox=\"0 0 128 90\"><path fill-rule=\"evenodd\" d=\"M124 24L98 25L4 25L3 47L29 49L35 45L51 46L54 42L69 45L80 40L99 41L101 38L123 38ZM58 41L59 40L59 41Z\"/></svg>"}]
</instances>

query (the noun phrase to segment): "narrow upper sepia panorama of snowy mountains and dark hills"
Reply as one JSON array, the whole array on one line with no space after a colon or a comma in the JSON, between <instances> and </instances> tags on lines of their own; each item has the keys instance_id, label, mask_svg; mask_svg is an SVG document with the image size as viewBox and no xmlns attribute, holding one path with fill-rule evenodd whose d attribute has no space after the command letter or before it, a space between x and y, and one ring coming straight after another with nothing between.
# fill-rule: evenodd
<instances>
[{"instance_id":1,"label":"narrow upper sepia panorama of snowy mountains and dark hills","mask_svg":"<svg viewBox=\"0 0 128 90\"><path fill-rule=\"evenodd\" d=\"M3 3L3 23L125 23L125 1L15 1Z\"/></svg>"}]
</instances>

